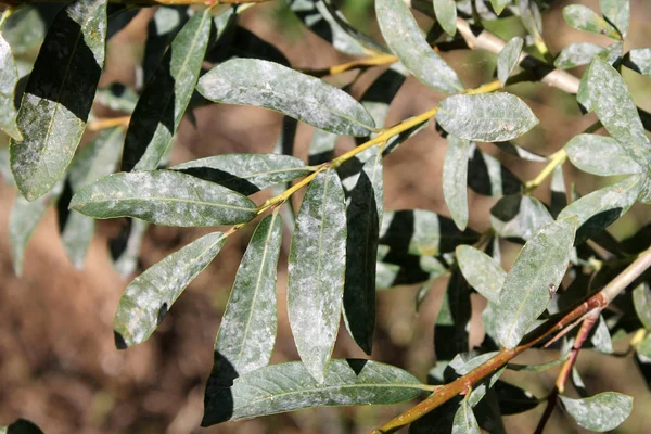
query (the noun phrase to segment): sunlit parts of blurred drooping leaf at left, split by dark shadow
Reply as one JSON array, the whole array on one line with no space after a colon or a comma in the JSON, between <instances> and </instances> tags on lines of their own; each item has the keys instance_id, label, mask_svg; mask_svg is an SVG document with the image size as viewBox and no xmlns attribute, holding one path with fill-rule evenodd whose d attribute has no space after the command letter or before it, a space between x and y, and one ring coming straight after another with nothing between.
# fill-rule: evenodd
<instances>
[{"instance_id":1,"label":"sunlit parts of blurred drooping leaf at left, split by dark shadow","mask_svg":"<svg viewBox=\"0 0 651 434\"><path fill-rule=\"evenodd\" d=\"M107 129L78 153L69 168L73 192L115 170L123 140L122 129ZM84 259L94 234L94 219L73 210L62 228L63 248L78 269L84 268Z\"/></svg>"}]
</instances>

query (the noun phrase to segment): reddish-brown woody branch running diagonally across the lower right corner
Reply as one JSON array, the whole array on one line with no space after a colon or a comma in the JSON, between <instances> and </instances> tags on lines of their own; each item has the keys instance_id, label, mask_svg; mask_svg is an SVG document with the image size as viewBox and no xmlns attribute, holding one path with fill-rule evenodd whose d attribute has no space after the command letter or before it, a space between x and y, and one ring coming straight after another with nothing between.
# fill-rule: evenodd
<instances>
[{"instance_id":1,"label":"reddish-brown woody branch running diagonally across the lower right corner","mask_svg":"<svg viewBox=\"0 0 651 434\"><path fill-rule=\"evenodd\" d=\"M525 349L533 347L547 337L562 332L566 327L574 323L577 319L595 309L601 310L622 291L624 291L635 279L644 272L651 266L651 247L641 253L638 258L631 263L624 271L614 278L601 291L589 296L585 302L575 306L569 312L557 315L550 318L546 323L528 333L523 342L512 349L502 349L495 357L470 371L463 376L441 387L430 395L425 400L417 404L411 409L386 422L384 425L374 430L374 434L393 433L400 427L422 418L424 414L447 403L449 399L461 394L469 386L473 386L484 378L493 374L515 356ZM559 318L558 321L556 318ZM556 322L554 322L556 321Z\"/></svg>"}]
</instances>

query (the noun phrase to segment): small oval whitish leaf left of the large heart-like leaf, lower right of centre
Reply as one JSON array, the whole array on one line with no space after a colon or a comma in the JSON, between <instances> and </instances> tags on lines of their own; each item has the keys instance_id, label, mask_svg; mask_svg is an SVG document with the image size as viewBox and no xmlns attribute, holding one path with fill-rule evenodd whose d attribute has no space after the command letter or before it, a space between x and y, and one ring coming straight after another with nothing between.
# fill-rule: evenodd
<instances>
[{"instance_id":1,"label":"small oval whitish leaf left of the large heart-like leaf, lower right of centre","mask_svg":"<svg viewBox=\"0 0 651 434\"><path fill-rule=\"evenodd\" d=\"M488 301L497 303L507 278L507 272L501 266L484 252L470 245L457 247L457 261L468 283Z\"/></svg>"}]
</instances>

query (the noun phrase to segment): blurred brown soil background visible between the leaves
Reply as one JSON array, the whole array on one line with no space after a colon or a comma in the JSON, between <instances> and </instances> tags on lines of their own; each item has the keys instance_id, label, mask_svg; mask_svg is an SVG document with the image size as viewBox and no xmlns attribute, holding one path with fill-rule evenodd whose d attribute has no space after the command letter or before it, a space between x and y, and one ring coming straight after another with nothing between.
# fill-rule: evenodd
<instances>
[{"instance_id":1,"label":"blurred brown soil background visible between the leaves","mask_svg":"<svg viewBox=\"0 0 651 434\"><path fill-rule=\"evenodd\" d=\"M371 0L341 2L348 20L365 33L379 37ZM605 46L605 37L570 27L562 8L583 3L599 10L599 1L553 1L542 14L544 36L552 54L572 42ZM651 46L651 4L631 0L631 24L625 51ZM133 87L150 22L155 8L143 9L126 28L116 34L107 47L106 66L100 86L122 82ZM423 28L431 21L417 13ZM295 68L324 68L354 58L343 55L322 39L306 30L292 16L284 1L275 0L246 10L239 25L272 43ZM524 35L516 18L495 29L503 38ZM36 31L36 27L35 27ZM28 37L28 36L26 36ZM36 41L39 36L33 35ZM42 35L41 35L42 37ZM22 53L31 59L38 46ZM467 50L444 53L468 87L494 78L496 55ZM352 87L359 97L384 67L372 68ZM583 68L571 69L580 76ZM337 86L348 84L355 73L328 80ZM624 77L638 106L651 111L651 81L624 68ZM520 84L508 89L523 98L540 119L540 125L519 141L529 151L548 155L573 136L591 125L593 115L583 116L573 95L541 84ZM394 100L386 124L422 113L444 95L408 78ZM103 106L93 113L99 118L120 116ZM174 164L225 153L272 152L282 128L278 113L243 106L209 105L194 110L192 122L183 120L170 156ZM295 154L307 156L314 128L299 125ZM92 138L87 133L85 141ZM0 138L3 146L7 139ZM337 152L354 146L341 139ZM520 179L529 180L544 167L540 163L518 159L494 146L484 151L499 157ZM409 139L385 158L385 208L422 208L449 216L443 200L441 177L446 142L433 125ZM570 164L564 166L567 186L589 192L610 180L582 174ZM138 256L137 270L127 279L113 267L107 248L126 221L98 222L84 269L68 260L60 240L56 209L50 208L34 232L26 250L24 272L14 275L10 256L8 224L16 189L0 182L0 425L16 418L36 422L47 433L365 433L407 409L410 404L393 407L323 408L278 414L252 421L230 422L201 429L204 384L213 363L213 343L228 301L229 290L240 258L246 248L253 226L229 238L217 259L184 291L169 310L158 330L144 344L127 350L115 349L112 322L119 296L138 272L161 260L201 234L205 229L178 229L150 226ZM545 183L536 196L549 202ZM254 195L257 203L270 196ZM297 197L299 199L299 197ZM488 210L496 197L469 192L470 227L489 228ZM298 202L296 202L298 204ZM635 206L609 230L622 239L651 221L648 207ZM283 301L286 280L289 232L279 265L279 331L271 362L296 360ZM518 252L503 243L502 265L508 269ZM378 294L378 328L372 358L403 367L420 379L435 361L434 321L446 288L446 278L433 283L419 312L414 298L419 285L397 286ZM471 345L483 340L480 315L484 299L473 294ZM615 343L625 350L628 337ZM365 357L342 329L335 357ZM553 353L532 350L518 362L540 362ZM584 350L578 368L590 394L618 391L635 397L634 413L618 430L621 433L651 432L651 394L631 357L612 357ZM558 369L542 373L508 371L502 376L544 398L551 390ZM505 417L509 433L534 431L544 405ZM557 410L546 433L583 432Z\"/></svg>"}]
</instances>

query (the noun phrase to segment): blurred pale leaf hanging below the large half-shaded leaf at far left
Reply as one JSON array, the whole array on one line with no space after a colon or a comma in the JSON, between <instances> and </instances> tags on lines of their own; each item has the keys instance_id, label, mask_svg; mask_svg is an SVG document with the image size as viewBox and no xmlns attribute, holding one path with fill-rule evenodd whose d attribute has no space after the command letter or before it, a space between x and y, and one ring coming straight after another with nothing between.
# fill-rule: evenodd
<instances>
[{"instance_id":1,"label":"blurred pale leaf hanging below the large half-shaded leaf at far left","mask_svg":"<svg viewBox=\"0 0 651 434\"><path fill-rule=\"evenodd\" d=\"M21 193L16 194L9 217L9 245L16 276L23 275L25 248L27 247L29 238L31 238L31 233L46 215L50 205L56 202L62 189L63 183L59 182L47 194L33 202L25 200Z\"/></svg>"}]
</instances>

